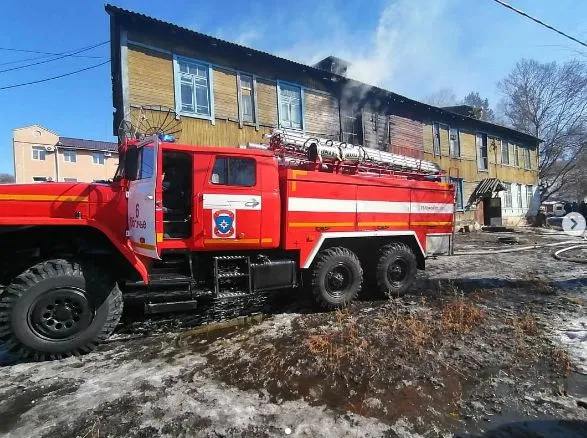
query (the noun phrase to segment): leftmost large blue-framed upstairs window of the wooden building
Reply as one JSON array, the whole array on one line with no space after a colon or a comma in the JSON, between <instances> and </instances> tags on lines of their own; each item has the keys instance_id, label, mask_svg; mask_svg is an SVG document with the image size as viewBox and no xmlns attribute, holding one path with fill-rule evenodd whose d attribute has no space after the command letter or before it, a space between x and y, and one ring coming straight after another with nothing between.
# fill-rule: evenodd
<instances>
[{"instance_id":1,"label":"leftmost large blue-framed upstairs window of the wooden building","mask_svg":"<svg viewBox=\"0 0 587 438\"><path fill-rule=\"evenodd\" d=\"M210 118L210 69L207 64L176 58L175 91L182 114Z\"/></svg>"}]
</instances>

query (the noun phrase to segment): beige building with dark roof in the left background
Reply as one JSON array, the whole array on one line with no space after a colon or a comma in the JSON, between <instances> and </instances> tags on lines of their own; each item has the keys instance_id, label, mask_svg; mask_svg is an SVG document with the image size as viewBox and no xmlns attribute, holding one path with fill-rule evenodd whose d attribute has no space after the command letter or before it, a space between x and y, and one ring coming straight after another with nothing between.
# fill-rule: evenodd
<instances>
[{"instance_id":1,"label":"beige building with dark roof in the left background","mask_svg":"<svg viewBox=\"0 0 587 438\"><path fill-rule=\"evenodd\" d=\"M17 183L108 180L118 166L116 143L61 137L39 125L15 129L12 145Z\"/></svg>"}]
</instances>

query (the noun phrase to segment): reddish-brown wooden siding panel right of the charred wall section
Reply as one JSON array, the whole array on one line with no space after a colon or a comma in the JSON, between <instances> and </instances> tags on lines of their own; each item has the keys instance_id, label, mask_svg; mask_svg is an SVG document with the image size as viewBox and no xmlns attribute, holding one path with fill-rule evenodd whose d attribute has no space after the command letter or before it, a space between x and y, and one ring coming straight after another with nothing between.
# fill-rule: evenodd
<instances>
[{"instance_id":1,"label":"reddish-brown wooden siding panel right of the charred wall section","mask_svg":"<svg viewBox=\"0 0 587 438\"><path fill-rule=\"evenodd\" d=\"M423 124L396 115L389 116L389 150L396 154L422 159L424 157Z\"/></svg>"}]
</instances>

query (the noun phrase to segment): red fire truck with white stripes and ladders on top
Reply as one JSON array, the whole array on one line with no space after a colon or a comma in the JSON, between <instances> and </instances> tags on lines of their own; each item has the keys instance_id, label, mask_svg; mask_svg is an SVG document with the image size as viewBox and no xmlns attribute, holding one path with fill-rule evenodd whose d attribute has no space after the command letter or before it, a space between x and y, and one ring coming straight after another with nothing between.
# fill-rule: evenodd
<instances>
[{"instance_id":1,"label":"red fire truck with white stripes and ladders on top","mask_svg":"<svg viewBox=\"0 0 587 438\"><path fill-rule=\"evenodd\" d=\"M59 358L147 312L311 289L328 309L407 290L450 250L454 189L433 163L276 131L269 145L121 147L111 183L0 188L0 350Z\"/></svg>"}]
</instances>

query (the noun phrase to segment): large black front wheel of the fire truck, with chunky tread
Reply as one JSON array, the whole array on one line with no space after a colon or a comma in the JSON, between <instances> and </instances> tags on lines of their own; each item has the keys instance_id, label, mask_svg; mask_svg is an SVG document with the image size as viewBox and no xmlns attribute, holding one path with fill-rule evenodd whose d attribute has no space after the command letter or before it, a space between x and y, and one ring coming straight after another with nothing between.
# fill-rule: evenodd
<instances>
[{"instance_id":1,"label":"large black front wheel of the fire truck, with chunky tread","mask_svg":"<svg viewBox=\"0 0 587 438\"><path fill-rule=\"evenodd\" d=\"M87 353L122 315L115 281L90 264L39 263L0 293L0 349L12 359L59 359Z\"/></svg>"}]
</instances>

